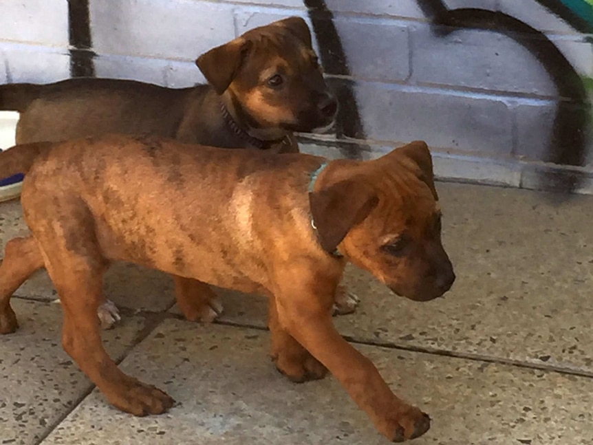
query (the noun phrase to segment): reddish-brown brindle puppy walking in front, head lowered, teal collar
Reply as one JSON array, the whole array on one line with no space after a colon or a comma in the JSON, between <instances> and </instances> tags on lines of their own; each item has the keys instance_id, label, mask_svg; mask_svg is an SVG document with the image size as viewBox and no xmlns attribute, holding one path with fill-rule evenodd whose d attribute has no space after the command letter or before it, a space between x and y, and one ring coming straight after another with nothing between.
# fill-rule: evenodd
<instances>
[{"instance_id":1,"label":"reddish-brown brindle puppy walking in front, head lowered, teal collar","mask_svg":"<svg viewBox=\"0 0 593 445\"><path fill-rule=\"evenodd\" d=\"M418 301L451 287L424 142L378 160L327 162L116 135L19 146L0 153L5 165L28 171L21 202L32 236L6 245L0 333L18 326L10 294L47 268L63 303L65 350L118 408L145 415L173 404L122 373L101 345L103 274L125 260L173 274L188 318L209 298L206 283L266 294L271 355L288 378L329 369L395 442L429 429L330 315L347 261Z\"/></svg>"}]
</instances>

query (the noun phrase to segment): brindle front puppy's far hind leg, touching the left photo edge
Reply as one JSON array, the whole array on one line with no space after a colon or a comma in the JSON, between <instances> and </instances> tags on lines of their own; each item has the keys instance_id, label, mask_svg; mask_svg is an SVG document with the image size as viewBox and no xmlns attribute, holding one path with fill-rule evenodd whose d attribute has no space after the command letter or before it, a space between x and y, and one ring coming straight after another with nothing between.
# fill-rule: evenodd
<instances>
[{"instance_id":1,"label":"brindle front puppy's far hind leg, touching the left photo edge","mask_svg":"<svg viewBox=\"0 0 593 445\"><path fill-rule=\"evenodd\" d=\"M43 257L33 237L14 238L6 243L0 264L0 334L10 334L19 327L10 307L10 297L40 268L43 268Z\"/></svg>"}]
</instances>

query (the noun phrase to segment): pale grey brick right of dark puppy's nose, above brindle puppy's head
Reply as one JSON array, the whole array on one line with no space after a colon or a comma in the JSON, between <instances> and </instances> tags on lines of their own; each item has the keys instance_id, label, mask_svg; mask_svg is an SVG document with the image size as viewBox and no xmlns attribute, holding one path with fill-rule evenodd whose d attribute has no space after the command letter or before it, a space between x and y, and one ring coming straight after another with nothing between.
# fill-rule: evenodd
<instances>
[{"instance_id":1,"label":"pale grey brick right of dark puppy's nose, above brindle puppy's head","mask_svg":"<svg viewBox=\"0 0 593 445\"><path fill-rule=\"evenodd\" d=\"M358 83L355 91L369 139L422 139L435 147L495 156L512 150L510 111L495 98L378 83Z\"/></svg>"}]
</instances>

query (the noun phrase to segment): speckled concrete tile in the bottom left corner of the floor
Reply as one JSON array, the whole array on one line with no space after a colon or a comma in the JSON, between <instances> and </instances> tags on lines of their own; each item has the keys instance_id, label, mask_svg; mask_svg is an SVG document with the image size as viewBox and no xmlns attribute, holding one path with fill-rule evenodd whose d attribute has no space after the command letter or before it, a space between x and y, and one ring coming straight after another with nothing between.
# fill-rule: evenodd
<instances>
[{"instance_id":1,"label":"speckled concrete tile in the bottom left corner of the floor","mask_svg":"<svg viewBox=\"0 0 593 445\"><path fill-rule=\"evenodd\" d=\"M36 444L93 385L62 349L61 307L12 299L20 328L0 337L0 444ZM137 343L145 318L129 316L103 335L123 358Z\"/></svg>"}]
</instances>

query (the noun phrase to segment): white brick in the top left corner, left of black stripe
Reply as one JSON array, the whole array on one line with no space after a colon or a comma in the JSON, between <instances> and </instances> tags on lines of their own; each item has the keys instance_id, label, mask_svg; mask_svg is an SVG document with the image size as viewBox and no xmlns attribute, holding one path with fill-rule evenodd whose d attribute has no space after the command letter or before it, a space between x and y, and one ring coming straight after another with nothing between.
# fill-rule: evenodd
<instances>
[{"instance_id":1,"label":"white brick in the top left corner, left of black stripe","mask_svg":"<svg viewBox=\"0 0 593 445\"><path fill-rule=\"evenodd\" d=\"M67 47L67 1L0 1L0 40Z\"/></svg>"}]
</instances>

